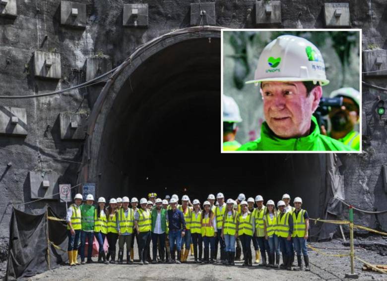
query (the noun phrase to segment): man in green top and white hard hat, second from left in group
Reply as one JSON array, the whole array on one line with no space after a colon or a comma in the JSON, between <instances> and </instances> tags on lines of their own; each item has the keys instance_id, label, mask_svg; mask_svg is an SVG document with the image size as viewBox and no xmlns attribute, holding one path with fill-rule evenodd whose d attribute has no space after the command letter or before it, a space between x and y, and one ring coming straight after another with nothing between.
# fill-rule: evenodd
<instances>
[{"instance_id":1,"label":"man in green top and white hard hat, second from left in group","mask_svg":"<svg viewBox=\"0 0 387 281\"><path fill-rule=\"evenodd\" d=\"M81 245L80 245L80 256L81 256L81 264L85 264L85 246L86 246L86 238L87 238L87 263L90 264L91 253L93 251L93 241L94 241L94 212L95 207L94 196L93 194L87 194L86 196L86 204L80 205L81 210Z\"/></svg>"}]
</instances>

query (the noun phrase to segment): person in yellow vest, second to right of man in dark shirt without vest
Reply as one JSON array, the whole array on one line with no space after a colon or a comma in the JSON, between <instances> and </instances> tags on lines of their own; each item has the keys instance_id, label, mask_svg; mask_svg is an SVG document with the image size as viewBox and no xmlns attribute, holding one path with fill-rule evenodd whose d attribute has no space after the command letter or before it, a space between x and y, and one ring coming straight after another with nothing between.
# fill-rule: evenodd
<instances>
[{"instance_id":1,"label":"person in yellow vest, second to right of man in dark shirt without vest","mask_svg":"<svg viewBox=\"0 0 387 281\"><path fill-rule=\"evenodd\" d=\"M203 239L201 237L201 210L200 201L194 199L194 210L191 214L191 237L194 244L194 262L201 263L203 252ZM197 252L199 250L199 252Z\"/></svg>"}]
</instances>

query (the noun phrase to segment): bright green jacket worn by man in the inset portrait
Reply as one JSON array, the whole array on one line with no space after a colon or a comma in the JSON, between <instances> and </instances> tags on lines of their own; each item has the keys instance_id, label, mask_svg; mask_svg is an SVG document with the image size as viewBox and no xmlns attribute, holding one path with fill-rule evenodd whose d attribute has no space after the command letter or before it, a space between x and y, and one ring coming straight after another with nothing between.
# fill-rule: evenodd
<instances>
[{"instance_id":1,"label":"bright green jacket worn by man in the inset portrait","mask_svg":"<svg viewBox=\"0 0 387 281\"><path fill-rule=\"evenodd\" d=\"M291 139L277 137L266 122L262 123L260 137L242 145L238 150L271 151L353 151L338 140L320 134L315 116L312 116L311 130L308 136Z\"/></svg>"}]
</instances>

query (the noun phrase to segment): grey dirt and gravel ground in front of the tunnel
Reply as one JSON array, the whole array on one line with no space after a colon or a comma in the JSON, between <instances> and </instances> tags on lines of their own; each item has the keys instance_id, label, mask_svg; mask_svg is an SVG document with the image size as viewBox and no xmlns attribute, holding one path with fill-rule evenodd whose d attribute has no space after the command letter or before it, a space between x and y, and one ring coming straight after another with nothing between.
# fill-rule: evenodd
<instances>
[{"instance_id":1,"label":"grey dirt and gravel ground in front of the tunnel","mask_svg":"<svg viewBox=\"0 0 387 281\"><path fill-rule=\"evenodd\" d=\"M358 238L355 240L355 255L372 264L387 264L387 251L366 247L363 244L386 244L383 238ZM136 243L135 243L136 244ZM334 239L329 242L312 242L309 245L319 247L319 251L329 254L349 253L349 247L343 244L342 239ZM136 245L135 245L136 247ZM327 248L340 248L340 250L331 250ZM252 248L254 253L254 248ZM138 259L137 249L134 249L134 259ZM254 255L254 254L253 254ZM219 256L219 254L218 254ZM242 267L242 261L237 261L236 266L224 266L218 264L195 264L194 257L189 256L187 264L149 264L149 265L105 265L105 264L86 264L76 267L68 265L61 266L50 272L36 275L29 280L346 280L345 273L350 273L349 257L330 257L309 251L310 272L305 271L286 271L281 269L262 268L253 264L253 267ZM117 257L116 257L117 258ZM124 255L125 259L125 255ZM97 260L97 258L93 258ZM78 258L79 262L79 258ZM125 263L125 261L124 261ZM253 261L254 263L254 261ZM297 261L295 262L297 264ZM361 270L362 263L355 260L355 272L359 274L362 281L384 280L387 281L387 274L365 272Z\"/></svg>"}]
</instances>

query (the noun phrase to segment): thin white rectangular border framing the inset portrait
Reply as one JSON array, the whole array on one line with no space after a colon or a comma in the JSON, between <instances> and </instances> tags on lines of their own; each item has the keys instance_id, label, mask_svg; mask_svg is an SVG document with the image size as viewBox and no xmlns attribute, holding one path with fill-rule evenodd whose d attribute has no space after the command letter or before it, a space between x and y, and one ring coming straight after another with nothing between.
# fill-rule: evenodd
<instances>
[{"instance_id":1,"label":"thin white rectangular border framing the inset portrait","mask_svg":"<svg viewBox=\"0 0 387 281\"><path fill-rule=\"evenodd\" d=\"M360 110L359 110L359 131L360 131L360 151L288 151L288 150L263 150L263 151L223 151L223 31L358 31L359 32L359 92L360 92ZM297 29L297 28L273 28L273 29L238 29L238 28L222 28L221 29L221 36L220 36L220 118L221 118L221 124L220 124L220 153L362 153L363 151L363 143L362 143L362 123L363 120L361 118L361 112L362 112L362 29L361 28L317 28L317 29Z\"/></svg>"}]
</instances>

